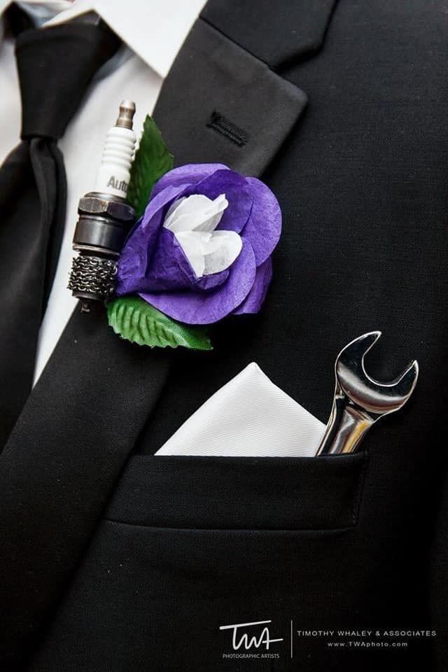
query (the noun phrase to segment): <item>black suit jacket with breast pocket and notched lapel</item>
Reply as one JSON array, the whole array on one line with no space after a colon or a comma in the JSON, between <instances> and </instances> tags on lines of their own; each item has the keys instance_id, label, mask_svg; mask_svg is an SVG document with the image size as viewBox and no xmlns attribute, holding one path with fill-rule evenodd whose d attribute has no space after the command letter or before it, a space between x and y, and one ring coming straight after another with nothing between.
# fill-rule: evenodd
<instances>
[{"instance_id":1,"label":"black suit jacket with breast pocket and notched lapel","mask_svg":"<svg viewBox=\"0 0 448 672\"><path fill-rule=\"evenodd\" d=\"M0 457L3 668L446 668L445 18L439 0L209 1L155 118L178 164L274 190L274 282L213 353L73 316ZM421 377L360 454L153 456L251 360L326 421L335 354L378 328L370 372L416 357ZM220 629L265 620L269 650Z\"/></svg>"}]
</instances>

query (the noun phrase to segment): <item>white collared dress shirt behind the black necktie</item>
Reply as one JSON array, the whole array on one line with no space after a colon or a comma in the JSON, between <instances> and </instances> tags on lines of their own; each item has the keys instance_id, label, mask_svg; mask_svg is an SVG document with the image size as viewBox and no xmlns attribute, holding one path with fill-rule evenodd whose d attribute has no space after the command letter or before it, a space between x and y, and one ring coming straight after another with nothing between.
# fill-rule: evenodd
<instances>
[{"instance_id":1,"label":"white collared dress shirt behind the black necktie","mask_svg":"<svg viewBox=\"0 0 448 672\"><path fill-rule=\"evenodd\" d=\"M9 4L0 0L0 16ZM34 381L45 367L76 305L66 286L73 257L71 241L78 200L94 186L104 139L116 120L120 101L124 98L135 101L134 129L139 137L146 114L153 111L163 79L204 4L205 0L32 0L20 3L39 24L57 12L44 25L95 10L127 45L94 78L83 104L59 141L68 185L66 225L55 281L41 325ZM21 104L14 43L4 35L1 19L0 91L0 162L3 162L18 144Z\"/></svg>"}]
</instances>

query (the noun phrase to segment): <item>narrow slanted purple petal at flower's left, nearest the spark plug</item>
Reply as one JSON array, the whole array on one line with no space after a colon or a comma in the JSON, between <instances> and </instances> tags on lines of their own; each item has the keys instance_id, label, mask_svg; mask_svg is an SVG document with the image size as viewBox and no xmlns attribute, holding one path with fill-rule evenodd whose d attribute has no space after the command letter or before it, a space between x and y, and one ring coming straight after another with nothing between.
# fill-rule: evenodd
<instances>
[{"instance_id":1,"label":"narrow slanted purple petal at flower's left, nearest the spark plug","mask_svg":"<svg viewBox=\"0 0 448 672\"><path fill-rule=\"evenodd\" d=\"M118 296L137 291L137 283L146 275L148 263L158 246L166 207L182 193L181 186L169 187L148 203L120 254L116 286Z\"/></svg>"}]
</instances>

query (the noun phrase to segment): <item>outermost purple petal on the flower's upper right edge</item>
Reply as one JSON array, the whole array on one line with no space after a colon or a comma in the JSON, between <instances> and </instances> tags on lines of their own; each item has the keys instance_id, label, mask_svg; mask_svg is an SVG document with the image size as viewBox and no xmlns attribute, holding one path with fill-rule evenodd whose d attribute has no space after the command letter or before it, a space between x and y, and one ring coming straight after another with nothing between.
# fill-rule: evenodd
<instances>
[{"instance_id":1,"label":"outermost purple petal on the flower's upper right edge","mask_svg":"<svg viewBox=\"0 0 448 672\"><path fill-rule=\"evenodd\" d=\"M269 187L255 177L247 177L246 181L251 186L253 207L242 235L251 243L259 266L279 242L281 210Z\"/></svg>"}]
</instances>

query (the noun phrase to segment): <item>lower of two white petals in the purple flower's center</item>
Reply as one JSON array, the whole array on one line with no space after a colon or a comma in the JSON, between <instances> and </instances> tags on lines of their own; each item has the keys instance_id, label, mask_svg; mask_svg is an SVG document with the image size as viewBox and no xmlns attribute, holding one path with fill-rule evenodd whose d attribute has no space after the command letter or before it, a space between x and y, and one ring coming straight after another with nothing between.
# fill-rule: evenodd
<instances>
[{"instance_id":1,"label":"lower of two white petals in the purple flower's center","mask_svg":"<svg viewBox=\"0 0 448 672\"><path fill-rule=\"evenodd\" d=\"M198 278L228 268L243 246L235 231L180 231L174 235Z\"/></svg>"}]
</instances>

